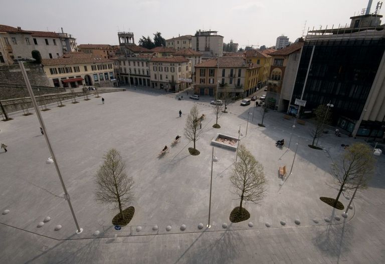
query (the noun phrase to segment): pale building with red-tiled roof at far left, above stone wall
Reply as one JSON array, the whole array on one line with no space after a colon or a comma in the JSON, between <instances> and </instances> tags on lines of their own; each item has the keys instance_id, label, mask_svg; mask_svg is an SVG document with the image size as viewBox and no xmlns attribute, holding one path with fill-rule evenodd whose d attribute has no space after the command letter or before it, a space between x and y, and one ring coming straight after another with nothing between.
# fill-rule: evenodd
<instances>
[{"instance_id":1,"label":"pale building with red-tiled roof at far left, above stone wall","mask_svg":"<svg viewBox=\"0 0 385 264\"><path fill-rule=\"evenodd\" d=\"M0 25L0 66L12 65L14 59L32 59L33 50L38 50L43 59L59 58L68 50L63 46L67 40L76 43L76 39L66 33L59 35Z\"/></svg>"}]
</instances>

